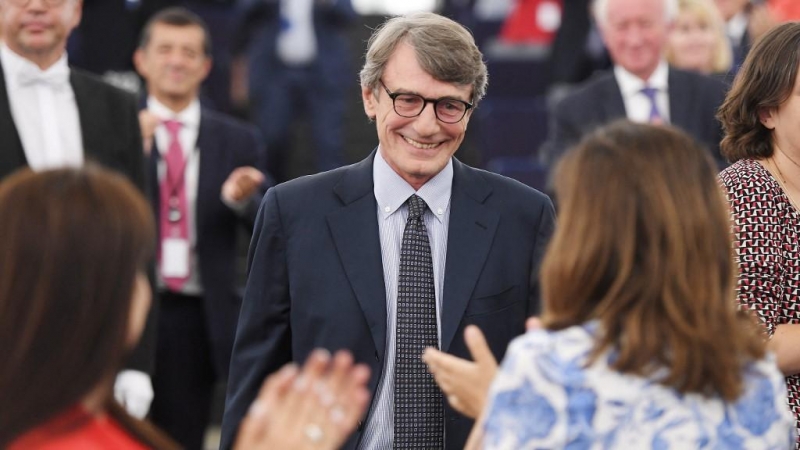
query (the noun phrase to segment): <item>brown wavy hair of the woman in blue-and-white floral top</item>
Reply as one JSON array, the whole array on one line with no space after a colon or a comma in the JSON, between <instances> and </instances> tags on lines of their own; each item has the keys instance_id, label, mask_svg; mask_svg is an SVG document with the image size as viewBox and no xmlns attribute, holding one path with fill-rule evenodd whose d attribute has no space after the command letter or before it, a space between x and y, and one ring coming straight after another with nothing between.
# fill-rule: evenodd
<instances>
[{"instance_id":1,"label":"brown wavy hair of the woman in blue-and-white floral top","mask_svg":"<svg viewBox=\"0 0 800 450\"><path fill-rule=\"evenodd\" d=\"M671 127L615 122L555 173L559 222L542 262L548 329L597 320L592 358L682 393L736 399L761 358L739 317L728 204L706 150ZM593 361L592 359L591 361Z\"/></svg>"}]
</instances>

